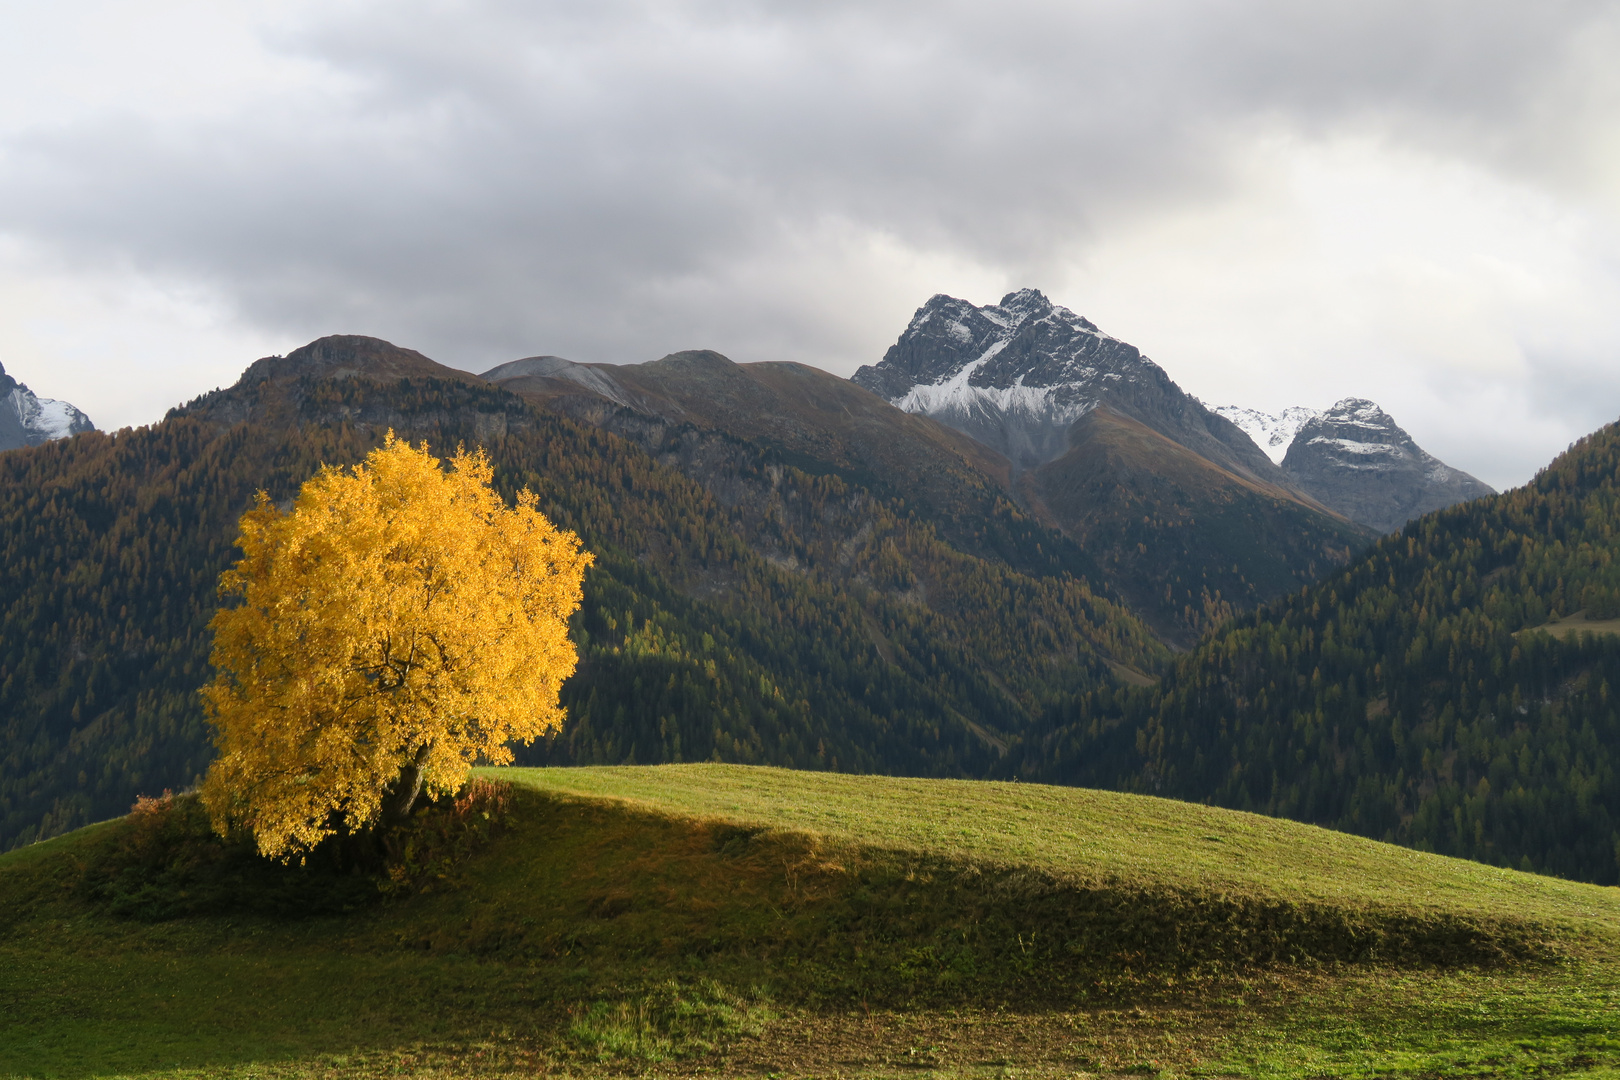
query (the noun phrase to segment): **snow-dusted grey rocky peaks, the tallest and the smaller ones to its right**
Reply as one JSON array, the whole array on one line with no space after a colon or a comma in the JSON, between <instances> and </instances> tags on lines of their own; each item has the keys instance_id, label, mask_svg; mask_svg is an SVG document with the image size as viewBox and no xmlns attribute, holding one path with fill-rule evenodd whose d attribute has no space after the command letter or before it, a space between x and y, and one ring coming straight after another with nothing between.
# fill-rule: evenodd
<instances>
[{"instance_id":1,"label":"snow-dusted grey rocky peaks, the tallest and the smaller ones to its right","mask_svg":"<svg viewBox=\"0 0 1620 1080\"><path fill-rule=\"evenodd\" d=\"M1095 437L1095 426L1118 423L1087 423L1098 411L1152 429L1251 489L1375 533L1492 494L1426 453L1362 398L1345 398L1325 413L1296 406L1275 416L1209 408L1136 347L1034 288L985 306L933 296L883 359L854 381L1000 450L1014 476L1032 474L1021 491L1035 504L1050 505L1051 491L1064 487L1059 476L1074 471L1071 455ZM1059 523L1079 526L1072 513L1059 515Z\"/></svg>"}]
</instances>

